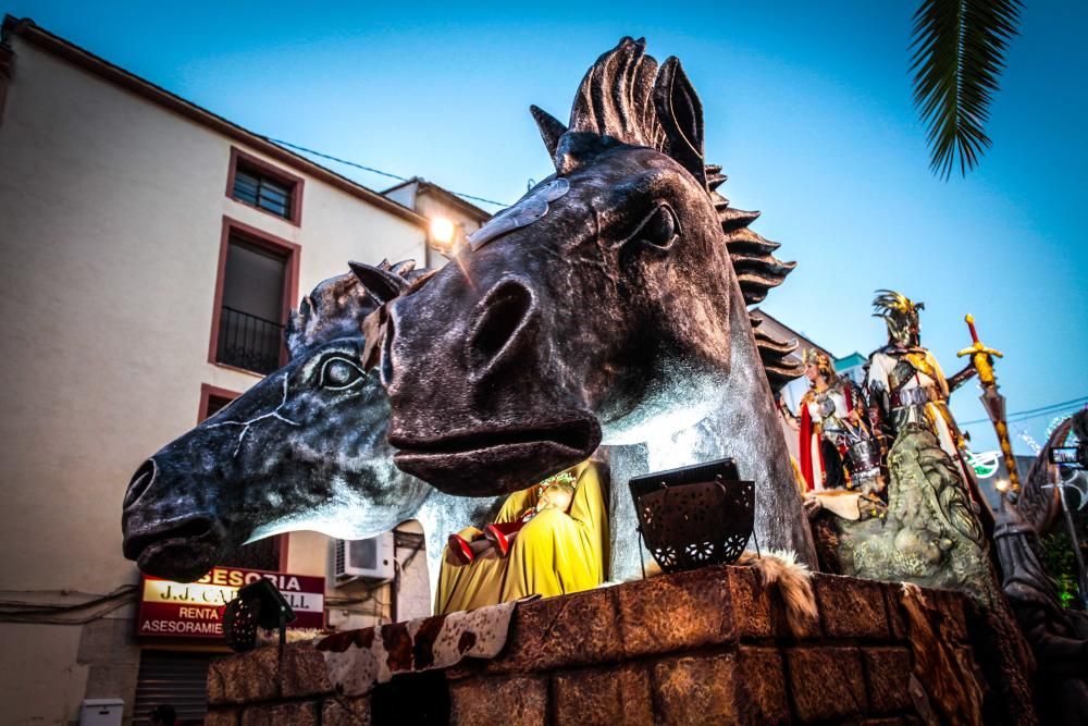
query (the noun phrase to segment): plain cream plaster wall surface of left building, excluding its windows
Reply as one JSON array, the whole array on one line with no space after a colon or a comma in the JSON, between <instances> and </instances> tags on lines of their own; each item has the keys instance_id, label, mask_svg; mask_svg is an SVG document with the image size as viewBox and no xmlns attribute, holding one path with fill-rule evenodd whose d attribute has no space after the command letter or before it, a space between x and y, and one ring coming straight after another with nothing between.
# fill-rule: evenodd
<instances>
[{"instance_id":1,"label":"plain cream plaster wall surface of left building, excluding its windows","mask_svg":"<svg viewBox=\"0 0 1088 726\"><path fill-rule=\"evenodd\" d=\"M196 423L201 383L240 392L258 380L207 362L223 217L301 245L300 294L348 259L422 259L426 233L305 174L300 227L238 204L225 196L230 139L20 36L11 42L0 121L0 590L104 593L137 579L121 554L133 471ZM312 540L293 543L288 566L317 568L305 547L325 541ZM321 562L298 571L324 575ZM79 640L77 626L0 624L3 721L77 717ZM132 693L104 694L131 705Z\"/></svg>"}]
</instances>

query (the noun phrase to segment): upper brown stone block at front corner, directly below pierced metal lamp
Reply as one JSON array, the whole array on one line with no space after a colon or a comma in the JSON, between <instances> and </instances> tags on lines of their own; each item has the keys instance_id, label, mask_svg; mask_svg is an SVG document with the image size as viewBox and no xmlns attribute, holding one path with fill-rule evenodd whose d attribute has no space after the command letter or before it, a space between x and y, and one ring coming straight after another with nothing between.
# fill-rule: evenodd
<instances>
[{"instance_id":1,"label":"upper brown stone block at front corner, directly below pierced metal lamp","mask_svg":"<svg viewBox=\"0 0 1088 726\"><path fill-rule=\"evenodd\" d=\"M730 581L724 567L663 575L613 588L627 657L733 640Z\"/></svg>"}]
</instances>

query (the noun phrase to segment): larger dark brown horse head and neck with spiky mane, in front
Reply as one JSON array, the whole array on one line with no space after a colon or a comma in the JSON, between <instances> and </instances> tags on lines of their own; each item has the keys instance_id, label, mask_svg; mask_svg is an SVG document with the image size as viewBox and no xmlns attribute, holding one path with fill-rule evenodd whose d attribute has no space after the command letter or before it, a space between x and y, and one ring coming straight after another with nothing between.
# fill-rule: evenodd
<instances>
[{"instance_id":1,"label":"larger dark brown horse head and neck with spiky mane, in front","mask_svg":"<svg viewBox=\"0 0 1088 726\"><path fill-rule=\"evenodd\" d=\"M397 466L446 492L521 489L611 447L613 579L635 576L630 477L732 457L763 546L815 566L768 376L800 371L747 306L793 263L729 206L676 58L625 38L569 125L533 107L555 174L388 308Z\"/></svg>"}]
</instances>

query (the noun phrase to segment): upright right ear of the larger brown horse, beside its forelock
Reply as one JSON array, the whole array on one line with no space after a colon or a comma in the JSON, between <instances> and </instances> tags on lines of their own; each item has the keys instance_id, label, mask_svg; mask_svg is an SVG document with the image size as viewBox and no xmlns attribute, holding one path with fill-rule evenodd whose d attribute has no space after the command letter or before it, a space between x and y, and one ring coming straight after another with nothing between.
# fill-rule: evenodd
<instances>
[{"instance_id":1,"label":"upright right ear of the larger brown horse, beside its forelock","mask_svg":"<svg viewBox=\"0 0 1088 726\"><path fill-rule=\"evenodd\" d=\"M706 186L703 163L703 103L677 58L662 65L654 83L654 106L665 130L665 151Z\"/></svg>"}]
</instances>

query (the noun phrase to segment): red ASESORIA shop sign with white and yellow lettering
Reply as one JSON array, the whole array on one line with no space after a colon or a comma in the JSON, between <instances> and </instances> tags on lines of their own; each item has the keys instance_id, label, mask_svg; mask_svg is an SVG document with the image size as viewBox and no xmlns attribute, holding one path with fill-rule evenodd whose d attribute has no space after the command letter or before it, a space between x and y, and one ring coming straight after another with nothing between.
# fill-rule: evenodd
<instances>
[{"instance_id":1,"label":"red ASESORIA shop sign with white and yellow lettering","mask_svg":"<svg viewBox=\"0 0 1088 726\"><path fill-rule=\"evenodd\" d=\"M295 611L288 629L325 626L325 578L215 567L196 582L173 582L145 575L140 582L136 635L169 638L223 638L223 607L238 588L265 578Z\"/></svg>"}]
</instances>

